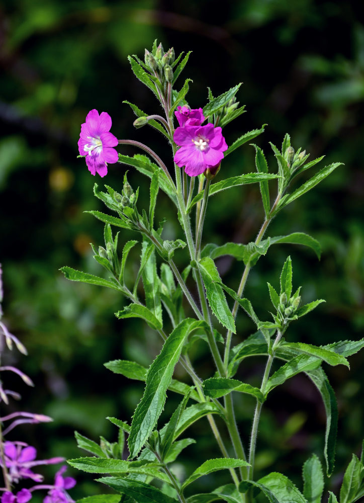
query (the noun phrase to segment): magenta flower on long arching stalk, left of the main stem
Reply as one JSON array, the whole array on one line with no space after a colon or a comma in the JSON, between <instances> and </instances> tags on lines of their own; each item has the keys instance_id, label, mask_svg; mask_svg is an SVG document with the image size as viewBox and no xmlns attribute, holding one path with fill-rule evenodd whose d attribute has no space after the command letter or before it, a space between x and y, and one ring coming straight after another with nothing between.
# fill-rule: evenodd
<instances>
[{"instance_id":1,"label":"magenta flower on long arching stalk, left of the main stem","mask_svg":"<svg viewBox=\"0 0 364 503\"><path fill-rule=\"evenodd\" d=\"M119 156L115 147L118 138L110 133L111 117L106 112L91 110L86 116L86 122L81 125L78 140L78 151L85 155L88 171L92 175L98 173L105 177L108 173L108 162L117 162Z\"/></svg>"}]
</instances>

